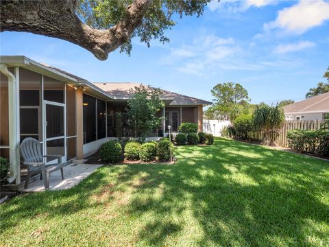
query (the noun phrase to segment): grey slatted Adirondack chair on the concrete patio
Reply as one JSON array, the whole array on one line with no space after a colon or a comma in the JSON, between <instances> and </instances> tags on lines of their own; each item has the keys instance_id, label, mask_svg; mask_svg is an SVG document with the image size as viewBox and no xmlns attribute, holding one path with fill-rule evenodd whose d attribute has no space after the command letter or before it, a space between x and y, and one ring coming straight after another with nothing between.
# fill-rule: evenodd
<instances>
[{"instance_id":1,"label":"grey slatted Adirondack chair on the concrete patio","mask_svg":"<svg viewBox=\"0 0 329 247\"><path fill-rule=\"evenodd\" d=\"M52 172L60 169L62 179L64 179L62 155L42 155L41 143L38 140L31 137L25 138L21 143L21 154L24 160L23 165L27 165L27 178L24 189L27 189L29 178L34 174L40 174L40 180L43 178L45 189L49 189L49 176ZM47 165L45 158L57 158L57 163Z\"/></svg>"}]
</instances>

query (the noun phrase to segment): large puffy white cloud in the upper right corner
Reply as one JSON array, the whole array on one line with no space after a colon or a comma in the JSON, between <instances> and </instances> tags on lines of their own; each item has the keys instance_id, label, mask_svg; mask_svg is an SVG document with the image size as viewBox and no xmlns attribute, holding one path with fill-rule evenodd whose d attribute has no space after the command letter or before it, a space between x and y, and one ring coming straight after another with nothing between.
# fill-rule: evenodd
<instances>
[{"instance_id":1,"label":"large puffy white cloud in the upper right corner","mask_svg":"<svg viewBox=\"0 0 329 247\"><path fill-rule=\"evenodd\" d=\"M280 10L275 21L264 24L264 30L280 29L289 34L303 34L328 20L329 2L301 0L289 8Z\"/></svg>"}]
</instances>

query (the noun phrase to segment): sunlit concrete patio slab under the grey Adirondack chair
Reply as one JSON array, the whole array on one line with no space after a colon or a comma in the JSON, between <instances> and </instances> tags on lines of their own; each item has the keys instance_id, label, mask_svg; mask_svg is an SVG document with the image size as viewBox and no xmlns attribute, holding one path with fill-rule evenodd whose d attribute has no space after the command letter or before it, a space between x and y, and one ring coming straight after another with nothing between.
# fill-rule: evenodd
<instances>
[{"instance_id":1,"label":"sunlit concrete patio slab under the grey Adirondack chair","mask_svg":"<svg viewBox=\"0 0 329 247\"><path fill-rule=\"evenodd\" d=\"M49 190L70 189L80 183L84 178L95 172L95 170L103 165L88 165L88 164L69 164L64 167L64 180L60 176L60 170L53 172L50 175ZM37 176L30 180L27 189L21 187L22 192L37 192L45 191L43 181Z\"/></svg>"}]
</instances>

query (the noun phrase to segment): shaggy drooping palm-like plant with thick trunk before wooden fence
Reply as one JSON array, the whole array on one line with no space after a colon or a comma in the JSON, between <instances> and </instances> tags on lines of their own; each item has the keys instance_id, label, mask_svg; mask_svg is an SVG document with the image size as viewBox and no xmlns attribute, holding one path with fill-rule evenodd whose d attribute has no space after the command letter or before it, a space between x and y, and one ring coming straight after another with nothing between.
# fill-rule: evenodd
<instances>
[{"instance_id":1,"label":"shaggy drooping palm-like plant with thick trunk before wooden fence","mask_svg":"<svg viewBox=\"0 0 329 247\"><path fill-rule=\"evenodd\" d=\"M280 106L260 104L256 107L253 116L254 128L264 132L262 145L276 145L271 137L271 131L280 128L284 123L284 113Z\"/></svg>"}]
</instances>

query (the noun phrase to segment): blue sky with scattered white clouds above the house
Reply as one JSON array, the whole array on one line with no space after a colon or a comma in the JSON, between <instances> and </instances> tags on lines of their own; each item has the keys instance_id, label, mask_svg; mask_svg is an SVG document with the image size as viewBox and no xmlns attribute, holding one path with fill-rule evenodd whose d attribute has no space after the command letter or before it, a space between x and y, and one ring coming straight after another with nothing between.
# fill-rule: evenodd
<instances>
[{"instance_id":1,"label":"blue sky with scattered white clouds above the house","mask_svg":"<svg viewBox=\"0 0 329 247\"><path fill-rule=\"evenodd\" d=\"M325 82L329 66L329 1L245 0L210 3L203 16L177 19L170 43L133 40L132 55L99 61L64 40L0 34L1 55L25 55L90 82L141 82L201 99L217 83L239 82L252 102L304 99Z\"/></svg>"}]
</instances>

